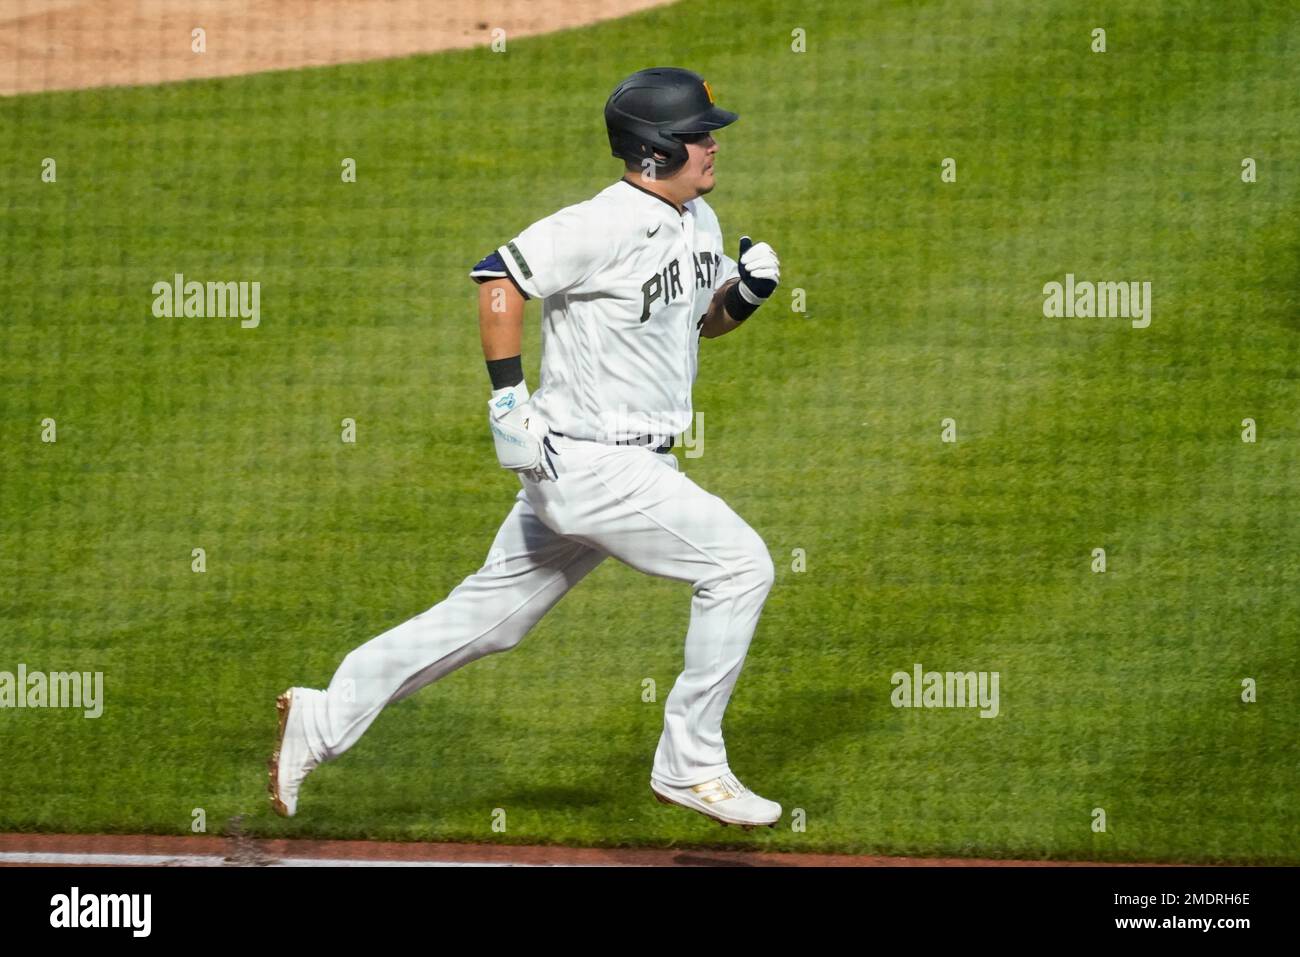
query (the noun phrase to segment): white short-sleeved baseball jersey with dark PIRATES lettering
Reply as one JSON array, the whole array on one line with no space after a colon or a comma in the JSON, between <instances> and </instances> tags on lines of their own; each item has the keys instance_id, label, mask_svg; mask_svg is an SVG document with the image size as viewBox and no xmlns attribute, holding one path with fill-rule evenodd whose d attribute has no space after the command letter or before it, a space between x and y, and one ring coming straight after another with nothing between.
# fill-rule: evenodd
<instances>
[{"instance_id":1,"label":"white short-sleeved baseball jersey with dark PIRATES lettering","mask_svg":"<svg viewBox=\"0 0 1300 957\"><path fill-rule=\"evenodd\" d=\"M530 404L555 432L604 442L682 433L701 320L736 276L702 198L679 213L620 179L538 220L471 272L542 300L542 376Z\"/></svg>"}]
</instances>

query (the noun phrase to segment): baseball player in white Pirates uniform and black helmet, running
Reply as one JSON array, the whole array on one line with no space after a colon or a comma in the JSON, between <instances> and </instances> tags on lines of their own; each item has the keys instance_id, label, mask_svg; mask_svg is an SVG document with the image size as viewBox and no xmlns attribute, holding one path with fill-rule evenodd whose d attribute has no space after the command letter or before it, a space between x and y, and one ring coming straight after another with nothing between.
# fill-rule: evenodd
<instances>
[{"instance_id":1,"label":"baseball player in white Pirates uniform and black helmet, running","mask_svg":"<svg viewBox=\"0 0 1300 957\"><path fill-rule=\"evenodd\" d=\"M506 651L606 557L693 588L685 670L664 705L650 788L725 824L775 826L781 806L732 772L723 713L774 568L762 538L672 455L692 420L701 338L736 329L780 280L767 243L723 252L712 133L738 117L690 70L641 70L604 121L623 178L498 247L471 270L502 467L520 492L482 568L446 599L348 654L325 690L280 696L270 798L291 817L312 768L399 701ZM524 304L541 300L541 381L524 382Z\"/></svg>"}]
</instances>

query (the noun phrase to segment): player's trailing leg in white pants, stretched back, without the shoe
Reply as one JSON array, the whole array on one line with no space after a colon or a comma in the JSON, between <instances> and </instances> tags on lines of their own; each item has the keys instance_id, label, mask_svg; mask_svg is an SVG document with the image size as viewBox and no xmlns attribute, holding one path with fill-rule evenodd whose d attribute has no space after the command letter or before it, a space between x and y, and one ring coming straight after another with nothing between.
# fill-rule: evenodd
<instances>
[{"instance_id":1,"label":"player's trailing leg in white pants, stretched back, without the shoe","mask_svg":"<svg viewBox=\"0 0 1300 957\"><path fill-rule=\"evenodd\" d=\"M295 692L317 758L351 748L386 705L517 645L603 558L555 534L520 493L482 568L438 605L351 651L326 690Z\"/></svg>"}]
</instances>

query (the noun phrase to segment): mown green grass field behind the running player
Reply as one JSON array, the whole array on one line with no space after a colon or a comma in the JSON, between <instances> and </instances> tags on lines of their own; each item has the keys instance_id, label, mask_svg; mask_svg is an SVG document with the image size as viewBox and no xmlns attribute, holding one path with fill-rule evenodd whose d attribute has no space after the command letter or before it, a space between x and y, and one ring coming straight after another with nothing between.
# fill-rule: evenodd
<instances>
[{"instance_id":1,"label":"mown green grass field behind the running player","mask_svg":"<svg viewBox=\"0 0 1300 957\"><path fill-rule=\"evenodd\" d=\"M96 720L0 710L0 830L1300 863L1300 21L1078 8L685 3L0 100L0 670L105 681ZM742 117L728 246L783 261L701 345L684 467L776 562L725 732L806 831L653 801L689 586L612 560L276 818L276 694L439 601L517 490L469 267L619 174L604 98L666 62ZM259 281L260 326L153 317L178 272ZM1044 317L1066 273L1150 281L1150 326ZM997 671L1001 714L893 707L916 662Z\"/></svg>"}]
</instances>

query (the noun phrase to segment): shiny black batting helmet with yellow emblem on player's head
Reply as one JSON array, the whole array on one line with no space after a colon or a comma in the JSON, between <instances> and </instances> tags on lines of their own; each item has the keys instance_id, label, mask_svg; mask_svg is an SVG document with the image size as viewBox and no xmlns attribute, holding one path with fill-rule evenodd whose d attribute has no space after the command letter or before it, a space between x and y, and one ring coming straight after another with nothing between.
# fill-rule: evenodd
<instances>
[{"instance_id":1,"label":"shiny black batting helmet with yellow emblem on player's head","mask_svg":"<svg viewBox=\"0 0 1300 957\"><path fill-rule=\"evenodd\" d=\"M604 103L614 155L629 163L651 159L664 176L672 176L686 161L684 138L720 130L737 120L736 113L714 105L714 91L703 77L676 66L637 70Z\"/></svg>"}]
</instances>

